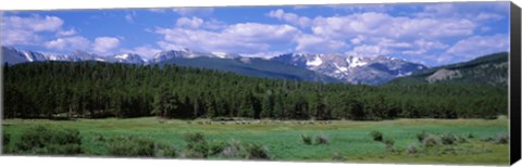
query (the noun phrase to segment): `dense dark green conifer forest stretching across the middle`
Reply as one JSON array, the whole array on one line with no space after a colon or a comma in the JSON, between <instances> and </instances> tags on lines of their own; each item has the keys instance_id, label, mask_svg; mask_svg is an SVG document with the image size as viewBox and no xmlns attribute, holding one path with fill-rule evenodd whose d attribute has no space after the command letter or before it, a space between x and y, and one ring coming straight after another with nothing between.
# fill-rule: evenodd
<instances>
[{"instance_id":1,"label":"dense dark green conifer forest stretching across the middle","mask_svg":"<svg viewBox=\"0 0 522 167\"><path fill-rule=\"evenodd\" d=\"M507 87L299 82L173 65L5 64L3 90L5 118L158 115L376 120L508 114Z\"/></svg>"}]
</instances>

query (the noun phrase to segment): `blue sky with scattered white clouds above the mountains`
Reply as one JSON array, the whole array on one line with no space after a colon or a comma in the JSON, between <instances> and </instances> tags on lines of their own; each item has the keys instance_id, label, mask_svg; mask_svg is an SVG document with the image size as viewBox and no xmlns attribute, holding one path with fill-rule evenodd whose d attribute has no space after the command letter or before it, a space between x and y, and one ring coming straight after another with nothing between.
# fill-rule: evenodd
<instances>
[{"instance_id":1,"label":"blue sky with scattered white clouds above the mountains","mask_svg":"<svg viewBox=\"0 0 522 167\"><path fill-rule=\"evenodd\" d=\"M428 66L509 50L509 2L4 11L0 44L67 54L166 50L386 55Z\"/></svg>"}]
</instances>

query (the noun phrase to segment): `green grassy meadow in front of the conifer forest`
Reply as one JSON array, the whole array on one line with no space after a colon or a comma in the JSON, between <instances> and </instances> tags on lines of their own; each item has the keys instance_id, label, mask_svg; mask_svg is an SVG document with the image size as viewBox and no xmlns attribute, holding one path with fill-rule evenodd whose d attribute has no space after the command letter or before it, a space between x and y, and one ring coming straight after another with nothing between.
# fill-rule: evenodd
<instances>
[{"instance_id":1,"label":"green grassy meadow in front of the conifer forest","mask_svg":"<svg viewBox=\"0 0 522 167\"><path fill-rule=\"evenodd\" d=\"M209 141L253 142L269 150L272 160L333 162L348 163L394 163L394 164L487 164L508 165L509 144L497 144L482 139L496 138L508 133L508 119L397 119L384 121L333 120L330 124L306 121L251 124L217 123L202 124L207 120L166 120L160 124L156 117L127 119L7 119L2 121L4 133L12 142L20 140L20 134L38 125L49 128L77 129L82 136L85 150L80 156L107 156L105 144L97 138L116 136L150 137L157 142L174 144L182 150L186 146L184 136L188 132L201 132ZM304 123L304 121L302 121ZM373 141L370 132L381 131L384 139L395 141L395 152L387 150L383 142ZM465 138L468 142L438 145L423 149L417 134L422 131L442 136L451 133ZM327 144L304 144L300 136L314 138L326 136ZM472 138L470 138L472 136ZM418 153L408 154L406 149L415 145ZM211 159L221 157L210 156Z\"/></svg>"}]
</instances>

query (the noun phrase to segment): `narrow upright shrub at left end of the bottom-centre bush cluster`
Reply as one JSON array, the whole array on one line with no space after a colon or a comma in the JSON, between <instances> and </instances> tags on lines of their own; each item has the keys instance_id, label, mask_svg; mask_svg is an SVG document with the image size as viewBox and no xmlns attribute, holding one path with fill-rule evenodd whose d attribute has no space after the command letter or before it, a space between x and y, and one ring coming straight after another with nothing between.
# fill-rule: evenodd
<instances>
[{"instance_id":1,"label":"narrow upright shrub at left end of the bottom-centre bush cluster","mask_svg":"<svg viewBox=\"0 0 522 167\"><path fill-rule=\"evenodd\" d=\"M187 150L185 152L187 157L207 158L209 156L209 144L202 133L187 133L185 136L185 142L187 142Z\"/></svg>"}]
</instances>

